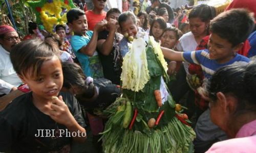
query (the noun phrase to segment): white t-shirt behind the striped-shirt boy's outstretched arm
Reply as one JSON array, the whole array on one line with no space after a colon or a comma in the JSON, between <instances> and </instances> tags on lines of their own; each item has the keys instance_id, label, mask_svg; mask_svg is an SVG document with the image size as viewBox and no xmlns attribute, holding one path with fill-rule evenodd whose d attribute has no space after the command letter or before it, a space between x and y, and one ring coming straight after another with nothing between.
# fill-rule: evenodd
<instances>
[{"instance_id":1,"label":"white t-shirt behind the striped-shirt boy's outstretched arm","mask_svg":"<svg viewBox=\"0 0 256 153\"><path fill-rule=\"evenodd\" d=\"M198 44L197 41L194 37L194 35L191 32L188 32L186 34L184 34L180 39L179 42L177 44L177 49L180 52L188 52L188 51L194 51L196 50ZM186 73L188 74L188 62L183 62L184 64L184 68Z\"/></svg>"}]
</instances>

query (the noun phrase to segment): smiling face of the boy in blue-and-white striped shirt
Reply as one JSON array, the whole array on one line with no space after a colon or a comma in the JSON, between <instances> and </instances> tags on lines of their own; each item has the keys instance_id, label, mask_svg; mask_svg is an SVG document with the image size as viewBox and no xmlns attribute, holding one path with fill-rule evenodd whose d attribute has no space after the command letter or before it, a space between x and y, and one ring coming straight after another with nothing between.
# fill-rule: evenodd
<instances>
[{"instance_id":1,"label":"smiling face of the boy in blue-and-white striped shirt","mask_svg":"<svg viewBox=\"0 0 256 153\"><path fill-rule=\"evenodd\" d=\"M208 49L210 59L216 60L218 63L222 64L230 61L234 57L234 53L238 52L240 45L233 47L226 39L211 33L208 41Z\"/></svg>"}]
</instances>

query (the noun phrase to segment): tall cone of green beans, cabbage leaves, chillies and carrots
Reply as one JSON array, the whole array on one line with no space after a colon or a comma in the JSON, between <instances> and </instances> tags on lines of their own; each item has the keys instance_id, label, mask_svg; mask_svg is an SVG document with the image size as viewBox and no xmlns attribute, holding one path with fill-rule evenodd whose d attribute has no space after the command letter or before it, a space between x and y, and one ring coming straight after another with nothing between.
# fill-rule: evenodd
<instances>
[{"instance_id":1,"label":"tall cone of green beans, cabbage leaves, chillies and carrots","mask_svg":"<svg viewBox=\"0 0 256 153\"><path fill-rule=\"evenodd\" d=\"M101 137L103 151L192 152L196 134L175 111L160 45L153 37L147 44L134 40L122 68L122 96L104 112L109 120Z\"/></svg>"}]
</instances>

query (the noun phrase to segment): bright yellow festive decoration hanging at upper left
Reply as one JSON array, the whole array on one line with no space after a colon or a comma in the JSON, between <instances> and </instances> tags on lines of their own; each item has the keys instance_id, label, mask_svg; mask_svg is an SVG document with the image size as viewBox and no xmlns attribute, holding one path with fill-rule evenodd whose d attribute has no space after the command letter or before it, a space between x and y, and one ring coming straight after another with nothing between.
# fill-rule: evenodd
<instances>
[{"instance_id":1,"label":"bright yellow festive decoration hanging at upper left","mask_svg":"<svg viewBox=\"0 0 256 153\"><path fill-rule=\"evenodd\" d=\"M44 25L48 32L53 33L55 25L67 22L66 14L76 8L72 0L40 0L27 2L36 14L36 23Z\"/></svg>"}]
</instances>

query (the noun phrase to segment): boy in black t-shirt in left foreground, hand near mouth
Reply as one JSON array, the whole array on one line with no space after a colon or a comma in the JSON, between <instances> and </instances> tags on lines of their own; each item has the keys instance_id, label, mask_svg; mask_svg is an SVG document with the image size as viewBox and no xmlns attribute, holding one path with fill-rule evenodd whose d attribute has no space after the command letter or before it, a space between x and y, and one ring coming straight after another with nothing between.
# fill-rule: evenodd
<instances>
[{"instance_id":1,"label":"boy in black t-shirt in left foreground, hand near mouth","mask_svg":"<svg viewBox=\"0 0 256 153\"><path fill-rule=\"evenodd\" d=\"M86 140L77 100L60 92L63 74L56 44L23 41L12 49L10 58L32 92L0 112L0 151L69 152L72 139Z\"/></svg>"}]
</instances>

